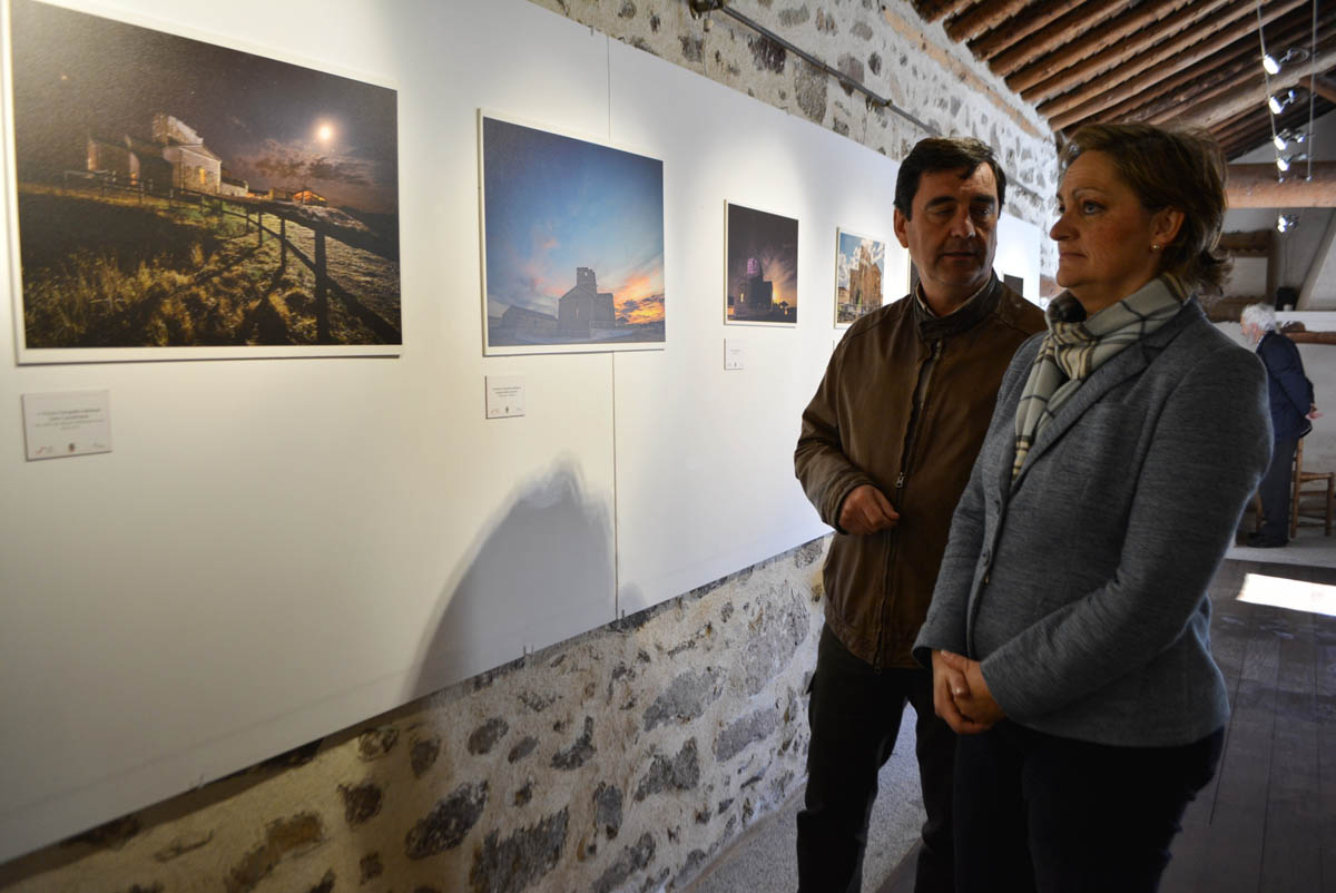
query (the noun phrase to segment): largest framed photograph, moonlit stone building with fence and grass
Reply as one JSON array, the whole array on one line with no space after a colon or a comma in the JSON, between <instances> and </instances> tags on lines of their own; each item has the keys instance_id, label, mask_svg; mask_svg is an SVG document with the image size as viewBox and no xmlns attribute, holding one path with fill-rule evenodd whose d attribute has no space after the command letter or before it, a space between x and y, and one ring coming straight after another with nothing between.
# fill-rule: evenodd
<instances>
[{"instance_id":1,"label":"largest framed photograph, moonlit stone building with fence and grass","mask_svg":"<svg viewBox=\"0 0 1336 893\"><path fill-rule=\"evenodd\" d=\"M399 353L393 88L4 12L19 362Z\"/></svg>"}]
</instances>

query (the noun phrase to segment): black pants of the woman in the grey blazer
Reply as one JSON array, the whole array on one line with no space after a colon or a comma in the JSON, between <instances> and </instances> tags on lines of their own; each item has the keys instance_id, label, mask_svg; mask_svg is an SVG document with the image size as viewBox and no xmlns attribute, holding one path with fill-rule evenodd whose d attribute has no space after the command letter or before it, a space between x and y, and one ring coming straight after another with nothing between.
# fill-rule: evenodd
<instances>
[{"instance_id":1,"label":"black pants of the woman in the grey blazer","mask_svg":"<svg viewBox=\"0 0 1336 893\"><path fill-rule=\"evenodd\" d=\"M959 893L1153 893L1224 730L1181 747L1110 747L1002 721L955 749Z\"/></svg>"}]
</instances>

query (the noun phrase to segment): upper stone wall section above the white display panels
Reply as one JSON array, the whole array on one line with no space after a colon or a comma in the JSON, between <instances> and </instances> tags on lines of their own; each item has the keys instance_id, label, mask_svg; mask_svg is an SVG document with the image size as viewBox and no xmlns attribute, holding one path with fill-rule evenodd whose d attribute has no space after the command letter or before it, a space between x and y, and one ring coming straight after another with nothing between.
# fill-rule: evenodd
<instances>
[{"instance_id":1,"label":"upper stone wall section above the white display panels","mask_svg":"<svg viewBox=\"0 0 1336 893\"><path fill-rule=\"evenodd\" d=\"M687 0L533 0L661 59L900 159L927 134L784 47ZM729 0L729 7L947 136L993 146L1010 178L1006 207L1046 233L1057 191L1053 132L987 66L906 0ZM887 198L890 201L890 198ZM1039 269L1057 270L1041 239Z\"/></svg>"}]
</instances>

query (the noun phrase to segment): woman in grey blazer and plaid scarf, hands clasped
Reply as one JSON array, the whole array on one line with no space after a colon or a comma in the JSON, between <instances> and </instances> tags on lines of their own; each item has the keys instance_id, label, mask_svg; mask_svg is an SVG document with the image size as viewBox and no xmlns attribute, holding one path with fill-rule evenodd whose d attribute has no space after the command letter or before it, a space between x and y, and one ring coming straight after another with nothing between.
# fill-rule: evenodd
<instances>
[{"instance_id":1,"label":"woman in grey blazer and plaid scarf, hands clasped","mask_svg":"<svg viewBox=\"0 0 1336 893\"><path fill-rule=\"evenodd\" d=\"M915 656L961 734L958 890L1156 890L1229 706L1206 587L1271 453L1257 358L1206 321L1224 159L1079 130L1049 332L1021 346Z\"/></svg>"}]
</instances>

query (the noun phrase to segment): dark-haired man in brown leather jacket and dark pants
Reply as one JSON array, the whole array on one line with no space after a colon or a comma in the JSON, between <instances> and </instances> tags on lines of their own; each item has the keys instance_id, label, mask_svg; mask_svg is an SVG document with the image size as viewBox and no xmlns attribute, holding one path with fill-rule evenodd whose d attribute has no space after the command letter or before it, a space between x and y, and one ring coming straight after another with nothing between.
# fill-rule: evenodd
<instances>
[{"instance_id":1,"label":"dark-haired man in brown leather jacket and dark pants","mask_svg":"<svg viewBox=\"0 0 1336 893\"><path fill-rule=\"evenodd\" d=\"M919 285L848 329L803 413L794 464L835 541L798 814L802 892L859 890L876 775L906 700L918 714L927 811L914 889L954 888L955 737L933 713L931 672L910 647L1002 373L1045 326L1039 309L993 274L1005 190L1006 174L979 140L914 147L895 183L895 237Z\"/></svg>"}]
</instances>

